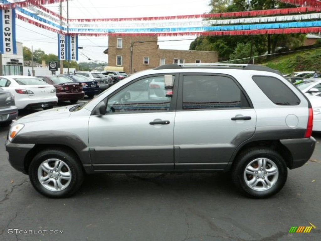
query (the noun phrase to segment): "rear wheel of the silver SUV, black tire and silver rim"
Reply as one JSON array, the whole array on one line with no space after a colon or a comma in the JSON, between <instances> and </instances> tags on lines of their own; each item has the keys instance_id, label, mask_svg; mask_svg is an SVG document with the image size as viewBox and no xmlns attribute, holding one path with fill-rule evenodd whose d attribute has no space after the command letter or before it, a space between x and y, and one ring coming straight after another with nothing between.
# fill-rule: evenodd
<instances>
[{"instance_id":1,"label":"rear wheel of the silver SUV, black tire and silver rim","mask_svg":"<svg viewBox=\"0 0 321 241\"><path fill-rule=\"evenodd\" d=\"M247 149L236 158L231 175L234 185L247 196L267 198L282 189L288 169L282 156L272 149Z\"/></svg>"}]
</instances>

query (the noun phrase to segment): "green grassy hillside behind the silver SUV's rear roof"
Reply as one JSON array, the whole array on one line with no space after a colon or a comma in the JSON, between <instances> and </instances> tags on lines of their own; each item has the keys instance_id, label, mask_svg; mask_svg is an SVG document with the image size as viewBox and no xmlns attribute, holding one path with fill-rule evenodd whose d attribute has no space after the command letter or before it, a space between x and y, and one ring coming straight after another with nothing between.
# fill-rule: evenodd
<instances>
[{"instance_id":1,"label":"green grassy hillside behind the silver SUV's rear roof","mask_svg":"<svg viewBox=\"0 0 321 241\"><path fill-rule=\"evenodd\" d=\"M295 71L319 71L321 72L321 48L302 50L289 55L280 56L262 64L277 69L281 73Z\"/></svg>"}]
</instances>

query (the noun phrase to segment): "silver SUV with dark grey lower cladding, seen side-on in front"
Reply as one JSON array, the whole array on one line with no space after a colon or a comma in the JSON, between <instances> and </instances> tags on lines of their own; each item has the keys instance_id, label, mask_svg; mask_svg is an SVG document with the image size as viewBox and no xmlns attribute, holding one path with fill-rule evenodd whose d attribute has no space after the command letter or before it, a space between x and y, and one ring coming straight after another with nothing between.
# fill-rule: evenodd
<instances>
[{"instance_id":1,"label":"silver SUV with dark grey lower cladding, seen side-on in front","mask_svg":"<svg viewBox=\"0 0 321 241\"><path fill-rule=\"evenodd\" d=\"M312 119L306 96L270 68L163 65L19 119L6 150L52 198L76 192L85 173L228 171L240 191L266 198L312 155Z\"/></svg>"}]
</instances>

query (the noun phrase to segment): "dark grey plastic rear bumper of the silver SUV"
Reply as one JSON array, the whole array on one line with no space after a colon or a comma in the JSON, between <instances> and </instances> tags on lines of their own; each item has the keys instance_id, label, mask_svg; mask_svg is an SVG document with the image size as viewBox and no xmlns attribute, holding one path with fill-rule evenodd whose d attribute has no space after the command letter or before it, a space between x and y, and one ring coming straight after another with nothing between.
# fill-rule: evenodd
<instances>
[{"instance_id":1,"label":"dark grey plastic rear bumper of the silver SUV","mask_svg":"<svg viewBox=\"0 0 321 241\"><path fill-rule=\"evenodd\" d=\"M313 137L280 141L292 154L292 161L289 163L290 169L304 165L312 156L316 146L316 139Z\"/></svg>"}]
</instances>

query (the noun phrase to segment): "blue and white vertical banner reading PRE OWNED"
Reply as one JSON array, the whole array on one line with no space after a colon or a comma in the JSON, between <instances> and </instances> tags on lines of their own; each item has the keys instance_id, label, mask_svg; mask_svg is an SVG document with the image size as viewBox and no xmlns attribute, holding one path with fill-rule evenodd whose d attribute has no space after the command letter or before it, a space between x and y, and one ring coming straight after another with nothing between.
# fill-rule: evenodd
<instances>
[{"instance_id":1,"label":"blue and white vertical banner reading PRE OWNED","mask_svg":"<svg viewBox=\"0 0 321 241\"><path fill-rule=\"evenodd\" d=\"M0 9L0 54L17 54L16 45L16 11Z\"/></svg>"}]
</instances>

